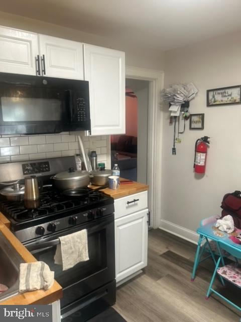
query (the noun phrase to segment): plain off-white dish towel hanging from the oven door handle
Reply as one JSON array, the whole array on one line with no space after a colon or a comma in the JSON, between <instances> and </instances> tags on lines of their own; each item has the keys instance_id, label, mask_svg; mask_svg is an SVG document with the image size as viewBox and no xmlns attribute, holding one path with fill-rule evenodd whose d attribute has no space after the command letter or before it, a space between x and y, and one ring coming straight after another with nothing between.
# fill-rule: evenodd
<instances>
[{"instance_id":1,"label":"plain off-white dish towel hanging from the oven door handle","mask_svg":"<svg viewBox=\"0 0 241 322\"><path fill-rule=\"evenodd\" d=\"M54 263L63 265L63 271L70 269L79 262L89 260L86 229L59 237L59 239L60 244L56 248Z\"/></svg>"}]
</instances>

